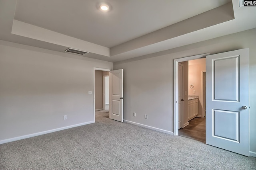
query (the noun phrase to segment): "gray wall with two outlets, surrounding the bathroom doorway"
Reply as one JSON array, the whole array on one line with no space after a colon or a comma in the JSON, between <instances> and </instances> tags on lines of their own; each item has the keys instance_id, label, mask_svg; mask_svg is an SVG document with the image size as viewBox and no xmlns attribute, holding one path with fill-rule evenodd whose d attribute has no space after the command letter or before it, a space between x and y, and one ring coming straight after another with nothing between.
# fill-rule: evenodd
<instances>
[{"instance_id":1,"label":"gray wall with two outlets, surrounding the bathroom doorway","mask_svg":"<svg viewBox=\"0 0 256 170\"><path fill-rule=\"evenodd\" d=\"M250 29L114 63L114 69L124 69L124 119L173 132L173 60L250 48L250 151L256 152L255 36L256 29Z\"/></svg>"}]
</instances>

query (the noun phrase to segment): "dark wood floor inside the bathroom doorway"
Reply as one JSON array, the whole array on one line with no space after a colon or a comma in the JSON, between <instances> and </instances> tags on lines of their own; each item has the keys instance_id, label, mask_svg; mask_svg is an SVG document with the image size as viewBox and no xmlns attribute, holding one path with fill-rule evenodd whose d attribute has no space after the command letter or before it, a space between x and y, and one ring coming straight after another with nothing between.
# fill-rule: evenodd
<instances>
[{"instance_id":1,"label":"dark wood floor inside the bathroom doorway","mask_svg":"<svg viewBox=\"0 0 256 170\"><path fill-rule=\"evenodd\" d=\"M189 125L179 129L179 135L205 143L205 118L195 117Z\"/></svg>"}]
</instances>

